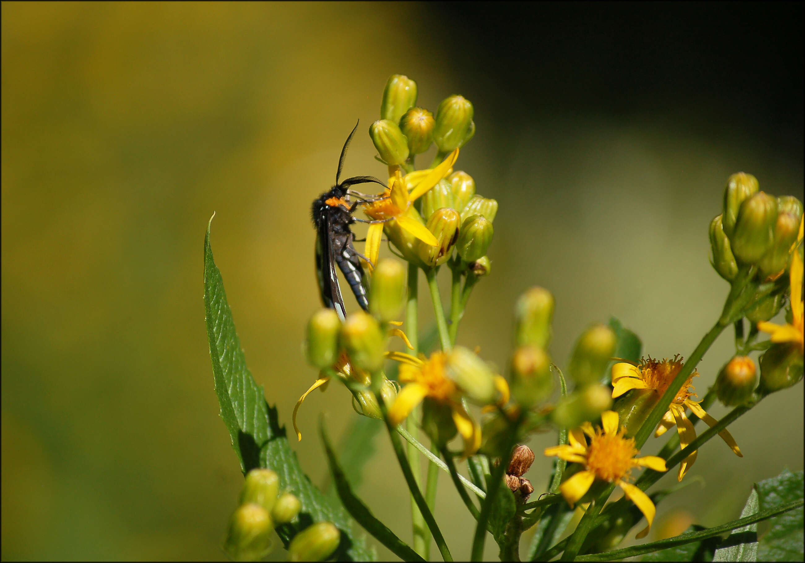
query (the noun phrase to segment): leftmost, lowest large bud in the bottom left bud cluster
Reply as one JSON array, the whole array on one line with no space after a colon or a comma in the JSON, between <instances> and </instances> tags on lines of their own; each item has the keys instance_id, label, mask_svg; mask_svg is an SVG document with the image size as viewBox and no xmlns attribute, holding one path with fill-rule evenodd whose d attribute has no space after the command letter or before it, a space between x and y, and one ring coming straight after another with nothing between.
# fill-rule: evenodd
<instances>
[{"instance_id":1,"label":"leftmost, lowest large bud in the bottom left bud cluster","mask_svg":"<svg viewBox=\"0 0 805 563\"><path fill-rule=\"evenodd\" d=\"M259 561L271 550L274 524L265 508L247 503L229 519L224 551L235 561Z\"/></svg>"}]
</instances>

